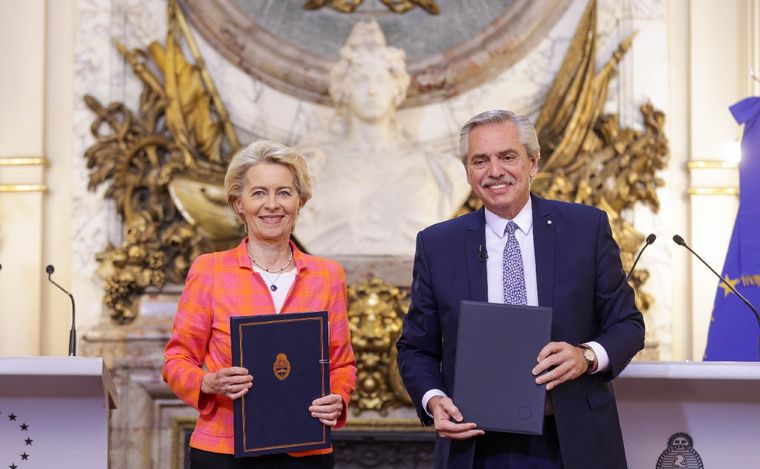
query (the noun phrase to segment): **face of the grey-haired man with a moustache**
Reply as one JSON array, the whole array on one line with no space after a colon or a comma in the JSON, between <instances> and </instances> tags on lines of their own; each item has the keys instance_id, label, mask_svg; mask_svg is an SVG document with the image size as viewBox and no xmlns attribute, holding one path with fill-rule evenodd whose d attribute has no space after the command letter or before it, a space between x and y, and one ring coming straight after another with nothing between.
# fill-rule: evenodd
<instances>
[{"instance_id":1,"label":"face of the grey-haired man with a moustache","mask_svg":"<svg viewBox=\"0 0 760 469\"><path fill-rule=\"evenodd\" d=\"M486 124L470 131L467 182L488 210L511 220L530 197L538 158L528 158L517 126Z\"/></svg>"}]
</instances>

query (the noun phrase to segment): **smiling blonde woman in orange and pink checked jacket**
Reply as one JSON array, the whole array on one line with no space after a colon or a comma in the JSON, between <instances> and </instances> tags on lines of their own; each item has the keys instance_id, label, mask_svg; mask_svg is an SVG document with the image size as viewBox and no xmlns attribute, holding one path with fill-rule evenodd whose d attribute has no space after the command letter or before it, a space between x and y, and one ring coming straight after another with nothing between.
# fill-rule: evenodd
<instances>
[{"instance_id":1,"label":"smiling blonde woman in orange and pink checked jacket","mask_svg":"<svg viewBox=\"0 0 760 469\"><path fill-rule=\"evenodd\" d=\"M254 142L233 157L224 186L248 236L234 249L195 260L164 350L164 380L200 412L190 437L191 467L333 467L331 448L233 456L232 401L251 389L255 377L230 366L230 316L328 311L331 394L309 407L325 425L345 423L356 366L343 269L300 252L290 241L298 213L311 197L303 157L278 143Z\"/></svg>"}]
</instances>

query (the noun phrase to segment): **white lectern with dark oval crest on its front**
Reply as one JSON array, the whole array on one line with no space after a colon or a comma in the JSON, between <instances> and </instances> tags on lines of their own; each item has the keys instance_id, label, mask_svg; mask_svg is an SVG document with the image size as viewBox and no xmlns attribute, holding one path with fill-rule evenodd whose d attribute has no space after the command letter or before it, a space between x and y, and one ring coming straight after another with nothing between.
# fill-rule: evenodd
<instances>
[{"instance_id":1,"label":"white lectern with dark oval crest on its front","mask_svg":"<svg viewBox=\"0 0 760 469\"><path fill-rule=\"evenodd\" d=\"M635 362L613 387L629 469L760 467L760 363Z\"/></svg>"}]
</instances>

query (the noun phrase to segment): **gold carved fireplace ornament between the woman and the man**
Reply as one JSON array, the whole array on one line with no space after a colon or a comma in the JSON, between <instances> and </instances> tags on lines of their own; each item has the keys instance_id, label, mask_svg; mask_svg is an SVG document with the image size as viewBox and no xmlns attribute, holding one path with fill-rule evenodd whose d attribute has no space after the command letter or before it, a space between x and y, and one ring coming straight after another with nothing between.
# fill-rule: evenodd
<instances>
[{"instance_id":1,"label":"gold carved fireplace ornament between the woman and the man","mask_svg":"<svg viewBox=\"0 0 760 469\"><path fill-rule=\"evenodd\" d=\"M411 406L396 365L396 340L409 308L409 291L372 278L348 287L348 323L356 354L355 415L366 410L386 415L394 407Z\"/></svg>"}]
</instances>

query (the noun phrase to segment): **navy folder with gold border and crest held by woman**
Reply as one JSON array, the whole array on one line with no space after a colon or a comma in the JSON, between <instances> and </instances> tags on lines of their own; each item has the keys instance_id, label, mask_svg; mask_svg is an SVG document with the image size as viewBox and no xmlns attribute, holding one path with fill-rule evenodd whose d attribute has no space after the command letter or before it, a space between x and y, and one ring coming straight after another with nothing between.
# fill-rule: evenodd
<instances>
[{"instance_id":1,"label":"navy folder with gold border and crest held by woman","mask_svg":"<svg viewBox=\"0 0 760 469\"><path fill-rule=\"evenodd\" d=\"M311 402L330 393L327 312L230 318L232 365L253 387L233 403L235 456L330 447Z\"/></svg>"}]
</instances>

